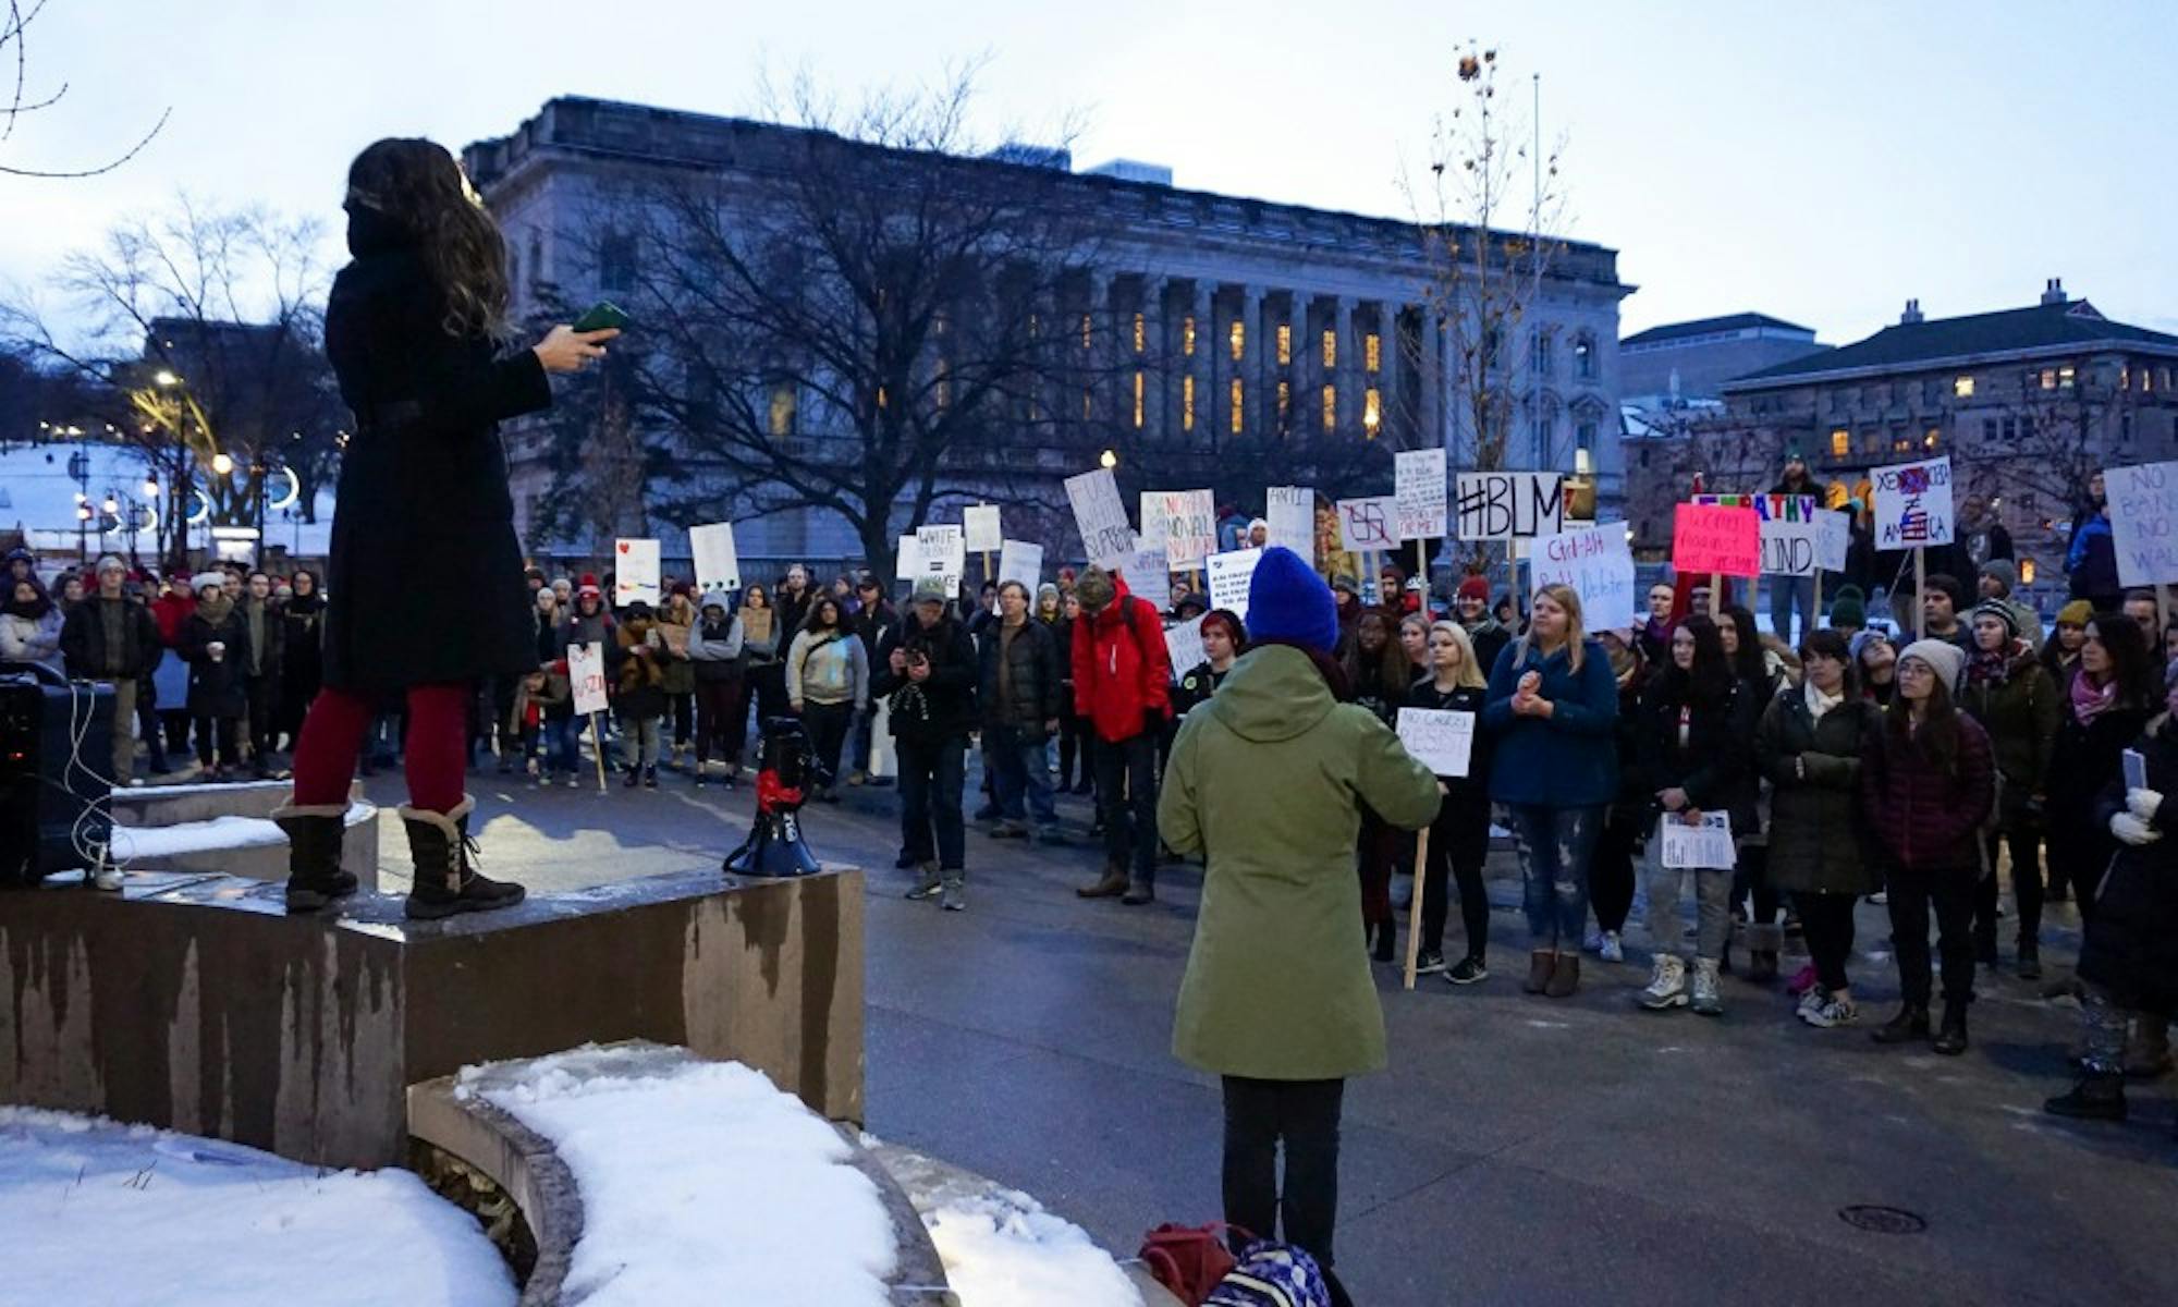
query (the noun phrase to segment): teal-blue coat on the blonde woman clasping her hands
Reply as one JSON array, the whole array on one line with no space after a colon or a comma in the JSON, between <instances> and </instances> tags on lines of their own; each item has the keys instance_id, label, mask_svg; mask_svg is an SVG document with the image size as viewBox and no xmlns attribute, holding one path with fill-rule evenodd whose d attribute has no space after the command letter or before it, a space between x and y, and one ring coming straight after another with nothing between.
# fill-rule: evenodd
<instances>
[{"instance_id":1,"label":"teal-blue coat on the blonde woman clasping her hands","mask_svg":"<svg viewBox=\"0 0 2178 1307\"><path fill-rule=\"evenodd\" d=\"M1553 704L1551 717L1516 717L1512 693L1529 671L1542 673L1535 693ZM1568 649L1549 658L1514 640L1490 669L1483 730L1496 736L1490 758L1490 797L1498 804L1586 808L1618 795L1618 680L1603 645L1581 645L1581 671Z\"/></svg>"}]
</instances>

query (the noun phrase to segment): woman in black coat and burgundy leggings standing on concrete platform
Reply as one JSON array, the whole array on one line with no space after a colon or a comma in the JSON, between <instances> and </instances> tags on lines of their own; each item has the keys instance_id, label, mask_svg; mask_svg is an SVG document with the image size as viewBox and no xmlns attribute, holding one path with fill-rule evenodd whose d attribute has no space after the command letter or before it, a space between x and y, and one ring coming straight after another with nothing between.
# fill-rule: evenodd
<instances>
[{"instance_id":1,"label":"woman in black coat and burgundy leggings standing on concrete platform","mask_svg":"<svg viewBox=\"0 0 2178 1307\"><path fill-rule=\"evenodd\" d=\"M383 699L405 699L401 808L409 917L521 902L470 865L462 738L475 684L536 669L536 619L514 538L499 420L551 405L549 372L599 359L614 331L553 327L501 353L507 257L462 166L425 139L383 139L348 168L348 253L325 353L355 412L327 569L325 688L294 754L287 908L355 891L340 869L348 778Z\"/></svg>"}]
</instances>

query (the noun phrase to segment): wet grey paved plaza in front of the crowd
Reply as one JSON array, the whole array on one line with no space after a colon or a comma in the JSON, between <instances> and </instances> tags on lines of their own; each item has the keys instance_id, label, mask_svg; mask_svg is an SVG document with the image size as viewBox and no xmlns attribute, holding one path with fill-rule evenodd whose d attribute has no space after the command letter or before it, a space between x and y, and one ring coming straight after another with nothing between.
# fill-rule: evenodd
<instances>
[{"instance_id":1,"label":"wet grey paved plaza in front of the crowd","mask_svg":"<svg viewBox=\"0 0 2178 1307\"><path fill-rule=\"evenodd\" d=\"M368 784L390 813L399 778ZM717 865L754 804L671 773L605 795L473 784L486 871L540 893ZM1080 902L1087 845L971 830L969 911L939 913L900 897L893 791L845 793L808 830L819 856L869 867L869 1131L1028 1189L1122 1255L1161 1220L1213 1220L1218 1089L1170 1054L1200 871L1167 869L1150 908ZM1087 806L1063 815L1078 834ZM1973 1048L1943 1059L1810 1030L1782 987L1727 980L1721 1022L1640 1013L1631 963L1590 958L1579 998L1527 998L1509 858L1492 871L1488 985L1403 993L1379 969L1392 1070L1348 1087L1339 1202L1359 1303L2178 1300L2178 1085L2139 1089L2126 1126L2045 1117L2071 1004L1984 972ZM2054 926L2052 972L2078 917ZM1862 952L1886 935L1862 908ZM1886 1017L1888 956L1856 958L1856 980L1864 1022ZM1925 1229L1858 1229L1853 1207Z\"/></svg>"}]
</instances>

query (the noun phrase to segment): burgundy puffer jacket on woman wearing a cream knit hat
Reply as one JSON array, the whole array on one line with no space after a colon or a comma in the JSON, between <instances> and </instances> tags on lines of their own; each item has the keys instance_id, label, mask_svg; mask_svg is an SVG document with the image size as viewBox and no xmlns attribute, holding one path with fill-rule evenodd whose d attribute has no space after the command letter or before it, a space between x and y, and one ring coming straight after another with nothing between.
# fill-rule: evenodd
<instances>
[{"instance_id":1,"label":"burgundy puffer jacket on woman wearing a cream knit hat","mask_svg":"<svg viewBox=\"0 0 2178 1307\"><path fill-rule=\"evenodd\" d=\"M1860 802L1875 839L1888 858L1917 871L1978 871L1978 834L1993 799L1989 734L1965 712L1958 714L1958 765L1949 775L1919 743L1895 743L1888 721L1860 765Z\"/></svg>"}]
</instances>

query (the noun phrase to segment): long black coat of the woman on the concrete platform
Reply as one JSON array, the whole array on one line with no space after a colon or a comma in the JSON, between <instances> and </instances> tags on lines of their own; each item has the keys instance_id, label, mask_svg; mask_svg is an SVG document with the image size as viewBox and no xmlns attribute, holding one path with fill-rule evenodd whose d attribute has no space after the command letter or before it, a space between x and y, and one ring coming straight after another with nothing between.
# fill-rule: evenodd
<instances>
[{"instance_id":1,"label":"long black coat of the woman on the concrete platform","mask_svg":"<svg viewBox=\"0 0 2178 1307\"><path fill-rule=\"evenodd\" d=\"M497 423L551 405L534 351L449 335L416 242L348 218L325 353L355 410L325 575L325 684L403 691L536 667Z\"/></svg>"}]
</instances>

